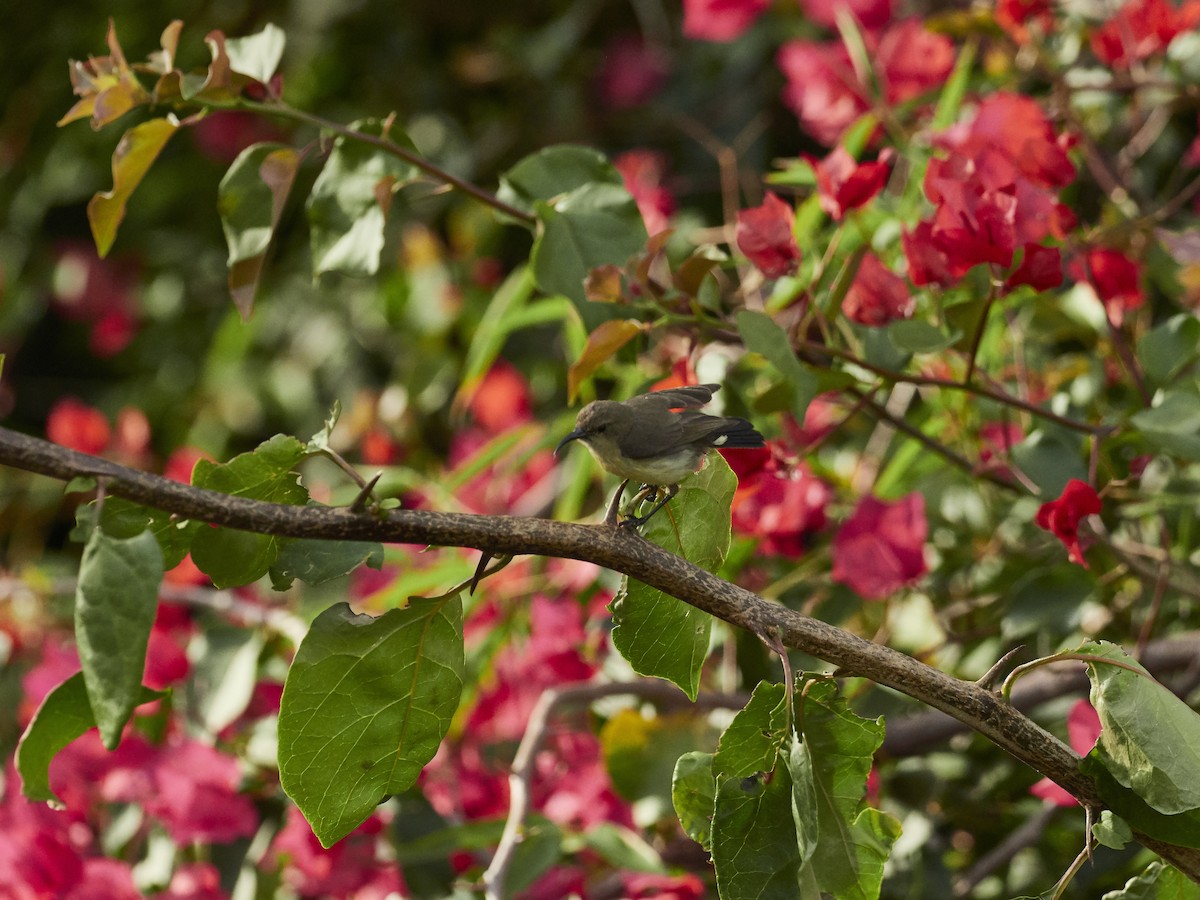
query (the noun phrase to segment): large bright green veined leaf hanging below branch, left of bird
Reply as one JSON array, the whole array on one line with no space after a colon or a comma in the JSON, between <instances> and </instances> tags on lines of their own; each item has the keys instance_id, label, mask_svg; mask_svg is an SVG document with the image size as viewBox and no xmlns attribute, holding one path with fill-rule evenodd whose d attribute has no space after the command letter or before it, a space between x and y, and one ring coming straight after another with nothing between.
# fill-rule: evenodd
<instances>
[{"instance_id":1,"label":"large bright green veined leaf hanging below branch, left of bird","mask_svg":"<svg viewBox=\"0 0 1200 900\"><path fill-rule=\"evenodd\" d=\"M280 782L330 847L416 781L458 707L462 600L312 623L280 703Z\"/></svg>"}]
</instances>

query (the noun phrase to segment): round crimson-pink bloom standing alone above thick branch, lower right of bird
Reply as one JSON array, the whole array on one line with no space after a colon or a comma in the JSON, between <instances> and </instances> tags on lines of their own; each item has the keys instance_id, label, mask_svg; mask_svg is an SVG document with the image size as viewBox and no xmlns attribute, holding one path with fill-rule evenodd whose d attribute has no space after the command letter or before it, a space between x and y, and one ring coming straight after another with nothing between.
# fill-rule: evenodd
<instances>
[{"instance_id":1,"label":"round crimson-pink bloom standing alone above thick branch, lower right of bird","mask_svg":"<svg viewBox=\"0 0 1200 900\"><path fill-rule=\"evenodd\" d=\"M883 600L926 571L925 498L864 497L833 539L833 580L866 600Z\"/></svg>"}]
</instances>

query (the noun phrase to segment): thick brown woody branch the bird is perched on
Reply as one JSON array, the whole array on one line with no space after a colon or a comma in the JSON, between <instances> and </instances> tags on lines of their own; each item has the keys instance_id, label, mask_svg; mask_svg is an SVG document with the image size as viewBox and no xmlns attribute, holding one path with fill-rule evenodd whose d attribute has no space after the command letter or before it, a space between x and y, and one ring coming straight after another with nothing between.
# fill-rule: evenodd
<instances>
[{"instance_id":1,"label":"thick brown woody branch the bird is perched on","mask_svg":"<svg viewBox=\"0 0 1200 900\"><path fill-rule=\"evenodd\" d=\"M592 562L637 578L756 635L774 637L786 647L811 654L844 672L868 678L940 709L1046 775L1082 803L1103 805L1091 779L1078 769L1079 756L997 695L888 647L769 602L625 528L515 516L426 510L354 512L264 503L190 487L7 428L0 428L0 464L64 481L79 476L103 479L109 494L181 518L260 534L473 547L492 556L532 554ZM1189 877L1200 880L1200 851L1145 836L1139 836L1139 840Z\"/></svg>"}]
</instances>

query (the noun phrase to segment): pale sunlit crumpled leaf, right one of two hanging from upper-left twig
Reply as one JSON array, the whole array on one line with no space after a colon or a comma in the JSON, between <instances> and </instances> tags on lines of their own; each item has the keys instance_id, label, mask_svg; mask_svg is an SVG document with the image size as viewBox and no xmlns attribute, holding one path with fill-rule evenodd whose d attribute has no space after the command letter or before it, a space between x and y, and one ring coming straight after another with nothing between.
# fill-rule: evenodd
<instances>
[{"instance_id":1,"label":"pale sunlit crumpled leaf, right one of two hanging from upper-left twig","mask_svg":"<svg viewBox=\"0 0 1200 900\"><path fill-rule=\"evenodd\" d=\"M408 138L385 134L378 120L361 120L350 127L414 149ZM374 275L383 251L385 204L419 175L415 166L394 154L338 137L308 194L313 274Z\"/></svg>"}]
</instances>

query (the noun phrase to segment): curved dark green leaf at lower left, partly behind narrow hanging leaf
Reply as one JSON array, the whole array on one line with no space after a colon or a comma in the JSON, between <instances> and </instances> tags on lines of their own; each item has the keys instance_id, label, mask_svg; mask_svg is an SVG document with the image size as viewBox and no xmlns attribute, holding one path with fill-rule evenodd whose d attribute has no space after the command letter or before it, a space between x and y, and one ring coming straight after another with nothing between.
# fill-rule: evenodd
<instances>
[{"instance_id":1,"label":"curved dark green leaf at lower left, partly behind narrow hanging leaf","mask_svg":"<svg viewBox=\"0 0 1200 900\"><path fill-rule=\"evenodd\" d=\"M166 691L142 688L138 704L149 703L164 694ZM26 798L34 802L59 802L50 790L50 761L62 748L95 727L96 716L88 701L83 672L76 672L46 695L25 727L25 733L20 736L17 772Z\"/></svg>"}]
</instances>

